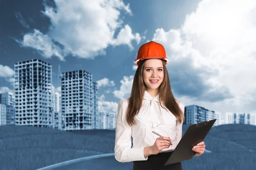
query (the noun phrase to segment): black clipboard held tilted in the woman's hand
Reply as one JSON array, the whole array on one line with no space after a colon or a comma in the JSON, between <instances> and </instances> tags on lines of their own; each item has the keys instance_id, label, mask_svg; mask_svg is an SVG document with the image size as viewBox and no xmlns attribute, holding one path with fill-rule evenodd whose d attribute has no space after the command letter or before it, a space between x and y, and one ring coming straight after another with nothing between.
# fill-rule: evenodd
<instances>
[{"instance_id":1,"label":"black clipboard held tilted in the woman's hand","mask_svg":"<svg viewBox=\"0 0 256 170\"><path fill-rule=\"evenodd\" d=\"M212 119L190 125L164 166L192 159L195 155L195 151L192 150L192 147L204 141L204 138L207 136L216 120L217 119Z\"/></svg>"}]
</instances>

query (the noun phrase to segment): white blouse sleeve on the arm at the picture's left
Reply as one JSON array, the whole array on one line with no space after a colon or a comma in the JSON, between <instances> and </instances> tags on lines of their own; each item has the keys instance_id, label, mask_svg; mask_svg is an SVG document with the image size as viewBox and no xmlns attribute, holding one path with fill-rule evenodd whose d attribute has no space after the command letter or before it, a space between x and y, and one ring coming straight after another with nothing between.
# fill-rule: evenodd
<instances>
[{"instance_id":1,"label":"white blouse sleeve on the arm at the picture's left","mask_svg":"<svg viewBox=\"0 0 256 170\"><path fill-rule=\"evenodd\" d=\"M127 107L126 100L120 101L117 106L115 158L119 162L145 161L148 157L144 156L144 147L131 148L132 129L125 118Z\"/></svg>"}]
</instances>

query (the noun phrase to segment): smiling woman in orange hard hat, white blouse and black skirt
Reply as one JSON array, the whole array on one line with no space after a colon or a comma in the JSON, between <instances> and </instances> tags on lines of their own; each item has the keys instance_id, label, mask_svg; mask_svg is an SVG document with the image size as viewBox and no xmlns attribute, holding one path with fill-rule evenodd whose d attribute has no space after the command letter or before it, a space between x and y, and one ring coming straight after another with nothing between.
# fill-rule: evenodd
<instances>
[{"instance_id":1,"label":"smiling woman in orange hard hat, white blouse and black skirt","mask_svg":"<svg viewBox=\"0 0 256 170\"><path fill-rule=\"evenodd\" d=\"M182 137L185 109L172 94L168 62L163 45L153 41L143 44L135 60L138 68L131 96L117 107L115 158L133 161L133 170L182 170L181 162L164 166ZM200 156L204 142L192 150Z\"/></svg>"}]
</instances>

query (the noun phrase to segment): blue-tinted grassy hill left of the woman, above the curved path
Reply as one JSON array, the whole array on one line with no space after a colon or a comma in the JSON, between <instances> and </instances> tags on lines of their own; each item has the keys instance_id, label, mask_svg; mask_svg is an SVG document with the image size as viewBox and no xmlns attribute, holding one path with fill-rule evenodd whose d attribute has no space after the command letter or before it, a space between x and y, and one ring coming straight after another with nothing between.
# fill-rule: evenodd
<instances>
[{"instance_id":1,"label":"blue-tinted grassy hill left of the woman, above the curved path","mask_svg":"<svg viewBox=\"0 0 256 170\"><path fill-rule=\"evenodd\" d=\"M113 153L114 139L113 130L65 132L0 126L0 169L35 170L70 159Z\"/></svg>"}]
</instances>

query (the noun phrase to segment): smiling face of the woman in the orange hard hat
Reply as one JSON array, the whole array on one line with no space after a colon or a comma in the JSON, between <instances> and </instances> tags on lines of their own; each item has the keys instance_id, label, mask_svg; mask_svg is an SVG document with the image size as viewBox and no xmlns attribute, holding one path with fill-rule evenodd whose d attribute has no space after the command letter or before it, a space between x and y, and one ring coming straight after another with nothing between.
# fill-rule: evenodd
<instances>
[{"instance_id":1,"label":"smiling face of the woman in the orange hard hat","mask_svg":"<svg viewBox=\"0 0 256 170\"><path fill-rule=\"evenodd\" d=\"M148 59L143 68L143 82L147 91L158 91L163 82L163 62L160 59Z\"/></svg>"}]
</instances>

